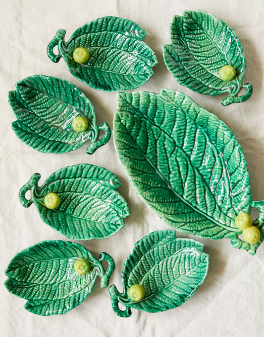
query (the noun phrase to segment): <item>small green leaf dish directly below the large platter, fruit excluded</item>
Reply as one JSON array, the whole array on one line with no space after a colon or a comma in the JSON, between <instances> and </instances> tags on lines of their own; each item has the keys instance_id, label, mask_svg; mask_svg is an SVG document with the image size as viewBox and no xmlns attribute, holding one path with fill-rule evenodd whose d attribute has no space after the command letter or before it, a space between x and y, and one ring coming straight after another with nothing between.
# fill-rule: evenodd
<instances>
[{"instance_id":1,"label":"small green leaf dish directly below the large platter, fruit excluded","mask_svg":"<svg viewBox=\"0 0 264 337\"><path fill-rule=\"evenodd\" d=\"M209 265L204 245L191 239L175 239L175 231L156 231L139 242L128 256L123 272L123 293L109 287L112 308L120 317L129 317L130 308L151 313L179 307L203 283ZM140 300L131 300L129 289L145 289ZM126 307L120 310L118 303Z\"/></svg>"}]
</instances>

